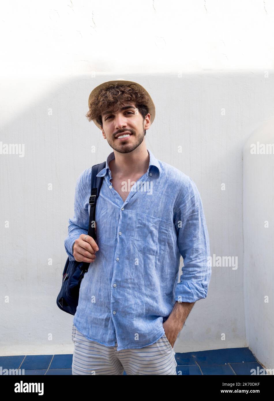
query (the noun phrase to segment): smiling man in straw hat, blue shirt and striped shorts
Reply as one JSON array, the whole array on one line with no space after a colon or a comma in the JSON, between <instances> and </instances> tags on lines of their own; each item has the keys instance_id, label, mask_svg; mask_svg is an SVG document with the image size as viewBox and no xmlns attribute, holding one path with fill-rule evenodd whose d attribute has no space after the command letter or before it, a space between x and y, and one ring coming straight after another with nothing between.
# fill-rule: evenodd
<instances>
[{"instance_id":1,"label":"smiling man in straw hat, blue shirt and striped shorts","mask_svg":"<svg viewBox=\"0 0 274 401\"><path fill-rule=\"evenodd\" d=\"M176 375L173 345L211 278L201 197L146 148L155 106L144 87L97 86L87 117L113 152L97 174L96 242L87 235L91 168L77 180L65 240L70 260L90 263L73 319L73 375Z\"/></svg>"}]
</instances>

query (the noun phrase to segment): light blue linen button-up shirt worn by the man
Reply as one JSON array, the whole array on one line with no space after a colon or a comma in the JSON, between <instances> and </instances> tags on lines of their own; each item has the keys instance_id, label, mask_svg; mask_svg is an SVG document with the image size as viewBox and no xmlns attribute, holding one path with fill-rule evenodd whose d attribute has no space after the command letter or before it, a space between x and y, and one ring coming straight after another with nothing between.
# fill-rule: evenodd
<instances>
[{"instance_id":1,"label":"light blue linen button-up shirt worn by the man","mask_svg":"<svg viewBox=\"0 0 274 401\"><path fill-rule=\"evenodd\" d=\"M109 168L96 203L97 244L80 286L73 318L87 339L117 350L142 348L164 335L162 323L175 301L207 297L211 278L209 236L197 186L148 150L149 168L123 201ZM75 215L69 219L65 249L75 260L75 239L87 234L91 167L76 182ZM183 274L178 283L180 256Z\"/></svg>"}]
</instances>

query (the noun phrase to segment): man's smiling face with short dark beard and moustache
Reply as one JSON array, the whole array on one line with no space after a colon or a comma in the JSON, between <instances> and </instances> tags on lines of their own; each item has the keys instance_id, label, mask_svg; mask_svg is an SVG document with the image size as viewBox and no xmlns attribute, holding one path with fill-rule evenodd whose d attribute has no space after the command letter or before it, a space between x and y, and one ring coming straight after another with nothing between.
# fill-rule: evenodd
<instances>
[{"instance_id":1,"label":"man's smiling face with short dark beard and moustache","mask_svg":"<svg viewBox=\"0 0 274 401\"><path fill-rule=\"evenodd\" d=\"M143 142L144 131L150 126L150 114L143 119L134 103L128 103L115 113L103 113L102 122L103 137L112 149L120 153L129 153ZM117 138L122 135L127 136Z\"/></svg>"}]
</instances>

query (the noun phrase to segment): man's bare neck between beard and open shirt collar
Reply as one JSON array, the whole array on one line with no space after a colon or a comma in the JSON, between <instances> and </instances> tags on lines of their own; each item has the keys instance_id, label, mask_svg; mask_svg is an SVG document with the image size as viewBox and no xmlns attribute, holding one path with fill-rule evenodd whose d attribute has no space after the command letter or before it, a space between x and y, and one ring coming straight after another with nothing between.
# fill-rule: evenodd
<instances>
[{"instance_id":1,"label":"man's bare neck between beard and open shirt collar","mask_svg":"<svg viewBox=\"0 0 274 401\"><path fill-rule=\"evenodd\" d=\"M149 166L149 154L146 146L138 146L132 152L119 153L114 151L115 159L110 161L110 170L113 174L125 177L134 174L144 174Z\"/></svg>"}]
</instances>

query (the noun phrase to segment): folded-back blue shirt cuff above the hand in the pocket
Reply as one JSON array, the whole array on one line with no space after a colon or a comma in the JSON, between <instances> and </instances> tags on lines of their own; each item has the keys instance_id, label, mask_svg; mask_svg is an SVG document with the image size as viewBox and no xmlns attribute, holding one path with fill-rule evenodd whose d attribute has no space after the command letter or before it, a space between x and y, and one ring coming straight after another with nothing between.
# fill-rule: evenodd
<instances>
[{"instance_id":1,"label":"folded-back blue shirt cuff above the hand in the pocket","mask_svg":"<svg viewBox=\"0 0 274 401\"><path fill-rule=\"evenodd\" d=\"M207 297L207 283L201 281L182 281L175 289L175 301L196 302Z\"/></svg>"}]
</instances>

